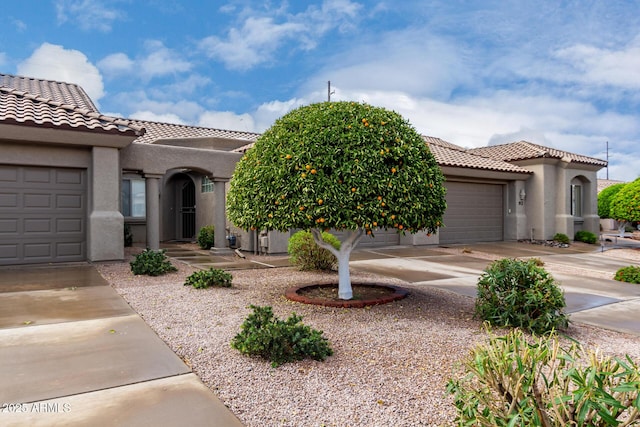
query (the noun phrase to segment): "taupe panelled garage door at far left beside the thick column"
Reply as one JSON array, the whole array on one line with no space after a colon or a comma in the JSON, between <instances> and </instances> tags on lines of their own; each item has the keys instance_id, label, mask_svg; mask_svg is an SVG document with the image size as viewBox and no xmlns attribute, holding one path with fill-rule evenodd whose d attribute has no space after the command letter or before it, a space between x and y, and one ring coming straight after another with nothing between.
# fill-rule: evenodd
<instances>
[{"instance_id":1,"label":"taupe panelled garage door at far left beside the thick column","mask_svg":"<svg viewBox=\"0 0 640 427\"><path fill-rule=\"evenodd\" d=\"M0 265L86 259L82 169L0 165Z\"/></svg>"}]
</instances>

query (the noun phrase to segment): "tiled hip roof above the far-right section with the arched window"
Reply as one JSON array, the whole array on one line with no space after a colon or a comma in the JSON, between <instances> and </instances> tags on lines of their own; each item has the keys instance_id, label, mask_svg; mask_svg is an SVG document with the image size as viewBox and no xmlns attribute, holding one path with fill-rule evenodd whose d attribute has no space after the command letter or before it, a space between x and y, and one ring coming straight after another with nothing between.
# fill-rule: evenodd
<instances>
[{"instance_id":1,"label":"tiled hip roof above the far-right section with the arched window","mask_svg":"<svg viewBox=\"0 0 640 427\"><path fill-rule=\"evenodd\" d=\"M553 158L567 162L584 163L588 165L607 166L605 160L582 156L568 151L557 150L527 141L512 142L510 144L492 145L489 147L473 148L470 153L492 157L494 159L512 162L517 160Z\"/></svg>"}]
</instances>

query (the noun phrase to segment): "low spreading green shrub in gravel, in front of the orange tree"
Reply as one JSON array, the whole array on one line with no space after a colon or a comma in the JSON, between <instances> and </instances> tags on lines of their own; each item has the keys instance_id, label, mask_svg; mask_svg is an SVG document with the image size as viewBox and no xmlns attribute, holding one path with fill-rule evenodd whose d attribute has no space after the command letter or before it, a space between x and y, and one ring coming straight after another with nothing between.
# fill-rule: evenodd
<instances>
[{"instance_id":1,"label":"low spreading green shrub in gravel, in front of the orange tree","mask_svg":"<svg viewBox=\"0 0 640 427\"><path fill-rule=\"evenodd\" d=\"M280 320L273 315L271 307L251 305L250 308L253 313L231 341L231 347L242 354L267 359L274 368L305 357L323 361L333 354L322 331L302 324L302 317L295 313L287 320Z\"/></svg>"}]
</instances>

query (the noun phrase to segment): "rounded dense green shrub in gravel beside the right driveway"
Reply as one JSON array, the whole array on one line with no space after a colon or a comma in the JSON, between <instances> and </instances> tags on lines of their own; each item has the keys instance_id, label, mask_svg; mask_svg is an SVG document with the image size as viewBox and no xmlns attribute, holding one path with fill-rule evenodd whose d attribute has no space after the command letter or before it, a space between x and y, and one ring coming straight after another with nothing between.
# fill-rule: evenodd
<instances>
[{"instance_id":1,"label":"rounded dense green shrub in gravel beside the right driveway","mask_svg":"<svg viewBox=\"0 0 640 427\"><path fill-rule=\"evenodd\" d=\"M494 261L478 279L475 314L492 325L549 332L568 325L565 305L555 280L535 260Z\"/></svg>"}]
</instances>

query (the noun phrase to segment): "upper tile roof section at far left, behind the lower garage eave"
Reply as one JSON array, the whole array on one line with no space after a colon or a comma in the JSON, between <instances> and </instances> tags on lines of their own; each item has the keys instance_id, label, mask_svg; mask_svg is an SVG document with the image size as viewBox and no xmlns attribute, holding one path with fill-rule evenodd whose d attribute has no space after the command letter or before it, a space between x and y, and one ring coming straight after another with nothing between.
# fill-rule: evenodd
<instances>
[{"instance_id":1,"label":"upper tile roof section at far left, behind the lower garage eave","mask_svg":"<svg viewBox=\"0 0 640 427\"><path fill-rule=\"evenodd\" d=\"M61 104L75 105L81 109L98 112L89 95L80 86L73 83L0 74L0 87L15 89Z\"/></svg>"}]
</instances>

